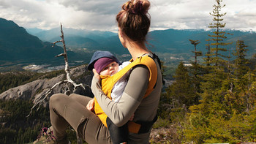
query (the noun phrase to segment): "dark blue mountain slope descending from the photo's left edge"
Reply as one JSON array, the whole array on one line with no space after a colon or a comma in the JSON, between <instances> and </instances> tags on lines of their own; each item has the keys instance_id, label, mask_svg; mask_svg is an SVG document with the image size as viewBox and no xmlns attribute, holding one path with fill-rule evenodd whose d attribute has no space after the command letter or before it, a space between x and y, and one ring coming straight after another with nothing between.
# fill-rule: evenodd
<instances>
[{"instance_id":1,"label":"dark blue mountain slope descending from the photo's left edge","mask_svg":"<svg viewBox=\"0 0 256 144\"><path fill-rule=\"evenodd\" d=\"M44 61L61 53L50 42L26 32L11 20L0 18L0 61Z\"/></svg>"}]
</instances>

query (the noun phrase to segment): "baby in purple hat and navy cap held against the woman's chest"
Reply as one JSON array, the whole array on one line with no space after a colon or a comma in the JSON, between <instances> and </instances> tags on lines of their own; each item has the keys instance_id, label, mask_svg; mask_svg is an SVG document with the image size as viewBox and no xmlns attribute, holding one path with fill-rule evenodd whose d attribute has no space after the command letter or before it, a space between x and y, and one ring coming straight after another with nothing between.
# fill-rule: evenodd
<instances>
[{"instance_id":1,"label":"baby in purple hat and navy cap held against the woman's chest","mask_svg":"<svg viewBox=\"0 0 256 144\"><path fill-rule=\"evenodd\" d=\"M88 69L91 70L94 68L99 73L99 75L111 76L116 74L116 72L120 71L124 67L126 67L128 64L130 64L129 61L126 61L121 64L121 62L118 61L118 59L108 51L98 50L94 53L94 56L92 56ZM123 94L124 88L127 85L128 75L129 72L127 72L124 75L124 77L121 77L121 79L119 79L113 86L110 96L114 102L119 102L119 99L121 99L121 95ZM127 124L118 127L115 124L113 124L110 118L107 118L107 125L110 132L111 140L114 144L127 143Z\"/></svg>"}]
</instances>

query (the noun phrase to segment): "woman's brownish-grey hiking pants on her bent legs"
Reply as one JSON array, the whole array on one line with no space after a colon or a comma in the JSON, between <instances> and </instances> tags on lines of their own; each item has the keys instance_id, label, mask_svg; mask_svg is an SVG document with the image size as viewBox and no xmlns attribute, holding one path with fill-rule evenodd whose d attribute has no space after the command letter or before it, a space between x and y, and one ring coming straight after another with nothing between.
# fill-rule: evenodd
<instances>
[{"instance_id":1,"label":"woman's brownish-grey hiking pants on her bent legs","mask_svg":"<svg viewBox=\"0 0 256 144\"><path fill-rule=\"evenodd\" d=\"M97 115L86 108L91 99L79 94L54 94L50 97L51 129L58 143L67 143L66 129L69 125L87 143L111 143L108 129Z\"/></svg>"}]
</instances>

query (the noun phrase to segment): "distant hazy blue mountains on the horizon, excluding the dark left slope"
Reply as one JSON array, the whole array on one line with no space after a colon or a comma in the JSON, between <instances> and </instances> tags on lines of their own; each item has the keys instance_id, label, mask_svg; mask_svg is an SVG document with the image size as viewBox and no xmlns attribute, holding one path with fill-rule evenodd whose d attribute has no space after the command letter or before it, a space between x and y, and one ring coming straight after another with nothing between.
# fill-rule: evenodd
<instances>
[{"instance_id":1,"label":"distant hazy blue mountains on the horizon, excluding the dark left slope","mask_svg":"<svg viewBox=\"0 0 256 144\"><path fill-rule=\"evenodd\" d=\"M58 39L59 28L50 30L34 30L27 29L29 33L34 34L47 42L55 42ZM256 34L252 31L236 31L227 30L227 42L233 42L230 47L236 47L236 41L244 40L248 45L249 50L255 50ZM116 33L110 31L86 31L81 29L64 29L67 39L67 45L70 48L89 48L110 50L115 53L127 53L127 50L122 48ZM189 39L199 40L197 45L198 50L205 51L206 39L209 39L208 34L212 31L204 31L203 29L166 29L150 31L148 33L148 47L154 52L159 53L186 53L193 50L193 45L190 44Z\"/></svg>"}]
</instances>

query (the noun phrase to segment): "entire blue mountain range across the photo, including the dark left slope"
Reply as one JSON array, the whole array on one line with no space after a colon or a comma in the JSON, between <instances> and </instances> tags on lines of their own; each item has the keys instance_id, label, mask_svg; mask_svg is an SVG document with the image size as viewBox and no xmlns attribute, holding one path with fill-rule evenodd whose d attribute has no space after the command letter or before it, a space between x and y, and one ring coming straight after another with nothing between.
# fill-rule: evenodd
<instances>
[{"instance_id":1,"label":"entire blue mountain range across the photo, including the dark left slope","mask_svg":"<svg viewBox=\"0 0 256 144\"><path fill-rule=\"evenodd\" d=\"M69 49L70 61L83 61L88 63L94 50L110 50L117 55L128 54L118 39L118 34L111 31L89 31L83 29L64 28L64 39ZM227 30L233 35L227 35L227 42L233 42L229 48L236 48L236 40L244 40L248 46L248 56L252 56L256 50L256 34L252 31ZM11 20L0 18L0 67L8 64L18 63L51 63L63 61L62 58L54 56L63 53L61 45L52 48L52 43L60 40L60 28L24 29ZM148 33L148 47L155 53L165 53L169 56L184 56L189 60L194 46L189 39L199 40L197 50L206 51L206 39L211 31L202 29L166 29L150 31ZM76 50L83 50L83 53ZM161 55L161 54L160 54ZM161 58L161 57L160 57Z\"/></svg>"}]
</instances>

